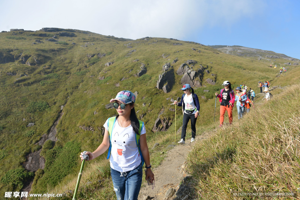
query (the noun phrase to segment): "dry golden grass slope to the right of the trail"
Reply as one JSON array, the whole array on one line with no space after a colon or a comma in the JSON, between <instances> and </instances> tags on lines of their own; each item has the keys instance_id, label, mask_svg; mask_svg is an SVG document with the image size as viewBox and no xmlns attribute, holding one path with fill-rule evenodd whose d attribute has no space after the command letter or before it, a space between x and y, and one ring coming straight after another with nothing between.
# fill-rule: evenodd
<instances>
[{"instance_id":1,"label":"dry golden grass slope to the right of the trail","mask_svg":"<svg viewBox=\"0 0 300 200\"><path fill-rule=\"evenodd\" d=\"M300 190L300 89L287 88L217 136L198 144L189 155L190 172L201 199L273 199L252 193ZM251 195L233 196L233 192Z\"/></svg>"}]
</instances>

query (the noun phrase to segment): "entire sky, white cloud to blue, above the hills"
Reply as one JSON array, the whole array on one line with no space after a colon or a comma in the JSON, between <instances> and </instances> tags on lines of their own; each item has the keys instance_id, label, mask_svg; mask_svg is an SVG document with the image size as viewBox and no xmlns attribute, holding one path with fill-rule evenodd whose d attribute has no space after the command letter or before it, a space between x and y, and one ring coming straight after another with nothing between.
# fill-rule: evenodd
<instances>
[{"instance_id":1,"label":"entire sky, white cloud to blue, above the hills","mask_svg":"<svg viewBox=\"0 0 300 200\"><path fill-rule=\"evenodd\" d=\"M298 0L0 0L0 31L71 28L240 45L300 59Z\"/></svg>"}]
</instances>

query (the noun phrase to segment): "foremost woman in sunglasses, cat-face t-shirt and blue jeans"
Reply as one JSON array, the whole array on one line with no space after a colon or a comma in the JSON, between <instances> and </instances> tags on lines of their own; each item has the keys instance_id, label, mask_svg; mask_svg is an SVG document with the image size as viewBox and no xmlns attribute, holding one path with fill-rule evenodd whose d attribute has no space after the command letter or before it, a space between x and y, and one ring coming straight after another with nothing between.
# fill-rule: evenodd
<instances>
[{"instance_id":1,"label":"foremost woman in sunglasses, cat-face t-shirt and blue jeans","mask_svg":"<svg viewBox=\"0 0 300 200\"><path fill-rule=\"evenodd\" d=\"M119 92L115 99L110 100L110 103L113 103L118 112L113 121L111 140L109 119L107 119L103 125L105 128L103 142L93 153L88 151L85 154L89 156L88 160L93 160L109 149L110 172L117 199L137 200L143 177L142 159L136 141L136 134L139 135L139 130L141 130L139 145L146 165L146 180L149 178L151 183L154 181L146 141L146 129L142 122L140 129L141 123L137 119L134 109L135 95L131 91ZM81 160L83 159L82 154L80 155Z\"/></svg>"}]
</instances>

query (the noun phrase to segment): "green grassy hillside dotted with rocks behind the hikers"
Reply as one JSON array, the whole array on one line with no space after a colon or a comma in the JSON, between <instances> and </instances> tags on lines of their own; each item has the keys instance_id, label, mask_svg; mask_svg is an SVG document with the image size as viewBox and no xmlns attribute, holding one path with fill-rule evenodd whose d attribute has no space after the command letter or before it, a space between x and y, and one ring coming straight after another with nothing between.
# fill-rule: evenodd
<instances>
[{"instance_id":1,"label":"green grassy hillside dotted with rocks behind the hikers","mask_svg":"<svg viewBox=\"0 0 300 200\"><path fill-rule=\"evenodd\" d=\"M61 32L71 37L62 36ZM171 64L175 84L165 94L156 88L158 75L164 64L176 58L178 61ZM72 180L79 170L79 153L94 150L102 141L104 122L116 114L114 109L105 109L105 105L121 90L137 91L136 110L138 116L143 116L150 144L160 137L165 143L170 142L168 137L164 139L165 132L152 132L152 128L162 110L159 117L173 121L175 113L169 110L173 106L166 98L181 97L182 76L176 71L189 59L197 61L189 67L196 70L202 65L209 70L198 78L202 87L195 88L199 97L205 97L199 100L198 121L203 126L198 127L199 131L214 124L214 112L207 111L212 110L214 93L222 88L224 80L229 80L232 87L245 83L257 88L257 82L262 80L285 86L292 77L286 80L284 76L298 70L297 66L286 66L289 71L276 77L278 70L267 67L268 60L241 58L198 43L166 38L128 40L69 29L0 33L0 177L4 177L0 181L1 193L19 191L31 181L32 193L48 192L58 183ZM278 63L288 61L276 59ZM106 66L108 62L113 64ZM143 64L147 73L134 76ZM215 79L216 85L205 82L208 78ZM177 113L180 120L181 114ZM41 142L61 114L57 141ZM27 127L29 123L35 124ZM39 151L45 158L44 168L25 170L26 157ZM161 159L156 158L155 163Z\"/></svg>"}]
</instances>

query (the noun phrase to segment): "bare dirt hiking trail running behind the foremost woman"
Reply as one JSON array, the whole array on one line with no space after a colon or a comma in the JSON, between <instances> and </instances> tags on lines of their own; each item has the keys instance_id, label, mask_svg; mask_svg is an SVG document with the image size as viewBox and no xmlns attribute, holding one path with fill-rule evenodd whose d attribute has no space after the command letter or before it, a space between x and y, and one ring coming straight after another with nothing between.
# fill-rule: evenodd
<instances>
[{"instance_id":1,"label":"bare dirt hiking trail running behind the foremost woman","mask_svg":"<svg viewBox=\"0 0 300 200\"><path fill-rule=\"evenodd\" d=\"M190 143L190 138L187 137L185 145L179 145L176 141L176 146L166 152L167 156L164 161L157 168L152 169L155 177L155 187L148 186L147 182L142 183L138 200L164 200L165 194L168 189L179 189L180 183L186 177L186 158L193 146L207 139L214 134L215 131L203 132L201 135L196 136L195 142ZM150 198L149 198L149 197Z\"/></svg>"}]
</instances>

